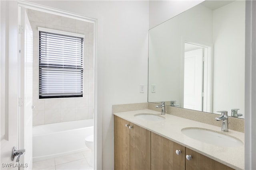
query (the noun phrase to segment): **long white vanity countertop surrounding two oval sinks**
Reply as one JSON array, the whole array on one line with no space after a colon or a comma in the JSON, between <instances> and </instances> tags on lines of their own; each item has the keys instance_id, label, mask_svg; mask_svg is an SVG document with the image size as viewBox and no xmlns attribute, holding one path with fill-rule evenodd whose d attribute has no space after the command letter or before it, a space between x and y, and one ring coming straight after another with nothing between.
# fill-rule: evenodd
<instances>
[{"instance_id":1,"label":"long white vanity countertop surrounding two oval sinks","mask_svg":"<svg viewBox=\"0 0 256 170\"><path fill-rule=\"evenodd\" d=\"M136 110L136 111L125 111L113 113L114 115L126 119L140 127L148 129L162 137L170 139L184 147L192 149L200 154L208 156L222 164L230 166L234 169L244 169L244 145L240 147L219 147L216 145L203 143L187 137L182 134L181 129L186 127L199 127L205 129L211 129L219 133L228 134L233 137L240 139L244 143L244 133L229 130L228 132L221 131L221 127L209 125L206 123L201 123L193 121L190 119L184 119L182 117L177 117L170 114L161 115L165 117L161 121L144 121L134 117L138 113L151 113L156 115L161 115L158 111L153 111L150 109Z\"/></svg>"}]
</instances>

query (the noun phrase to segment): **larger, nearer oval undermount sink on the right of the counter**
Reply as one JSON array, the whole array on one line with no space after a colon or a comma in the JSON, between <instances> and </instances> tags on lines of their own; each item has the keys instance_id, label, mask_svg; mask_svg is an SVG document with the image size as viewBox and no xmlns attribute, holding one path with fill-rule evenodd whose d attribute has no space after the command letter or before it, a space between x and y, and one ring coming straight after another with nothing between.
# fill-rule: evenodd
<instances>
[{"instance_id":1,"label":"larger, nearer oval undermount sink on the right of the counter","mask_svg":"<svg viewBox=\"0 0 256 170\"><path fill-rule=\"evenodd\" d=\"M181 132L192 139L219 147L238 147L244 145L240 139L210 129L188 127L181 129Z\"/></svg>"}]
</instances>

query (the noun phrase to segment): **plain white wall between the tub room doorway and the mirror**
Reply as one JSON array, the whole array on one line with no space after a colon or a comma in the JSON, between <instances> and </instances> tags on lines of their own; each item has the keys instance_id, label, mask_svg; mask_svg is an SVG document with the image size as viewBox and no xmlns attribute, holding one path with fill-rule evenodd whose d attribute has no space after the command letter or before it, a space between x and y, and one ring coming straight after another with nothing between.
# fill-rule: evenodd
<instances>
[{"instance_id":1,"label":"plain white wall between the tub room doorway and the mirror","mask_svg":"<svg viewBox=\"0 0 256 170\"><path fill-rule=\"evenodd\" d=\"M102 168L114 168L113 104L147 102L148 1L32 1L98 20Z\"/></svg>"}]
</instances>

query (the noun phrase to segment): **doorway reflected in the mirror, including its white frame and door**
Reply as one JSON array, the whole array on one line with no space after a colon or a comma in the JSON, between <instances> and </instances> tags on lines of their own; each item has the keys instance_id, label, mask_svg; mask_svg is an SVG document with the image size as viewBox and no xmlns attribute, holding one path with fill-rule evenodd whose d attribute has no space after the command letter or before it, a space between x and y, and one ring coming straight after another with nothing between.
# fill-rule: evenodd
<instances>
[{"instance_id":1,"label":"doorway reflected in the mirror, including its white frame and door","mask_svg":"<svg viewBox=\"0 0 256 170\"><path fill-rule=\"evenodd\" d=\"M212 107L211 47L184 42L184 91L186 109L210 112Z\"/></svg>"}]
</instances>

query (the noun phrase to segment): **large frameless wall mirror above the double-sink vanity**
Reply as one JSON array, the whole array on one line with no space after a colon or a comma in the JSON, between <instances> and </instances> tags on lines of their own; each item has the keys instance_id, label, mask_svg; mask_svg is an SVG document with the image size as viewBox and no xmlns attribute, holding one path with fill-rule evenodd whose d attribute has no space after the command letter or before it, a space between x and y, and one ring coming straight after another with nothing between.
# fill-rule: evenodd
<instances>
[{"instance_id":1,"label":"large frameless wall mirror above the double-sink vanity","mask_svg":"<svg viewBox=\"0 0 256 170\"><path fill-rule=\"evenodd\" d=\"M204 1L149 30L148 102L244 117L245 1ZM239 115L240 115L239 114Z\"/></svg>"}]
</instances>

